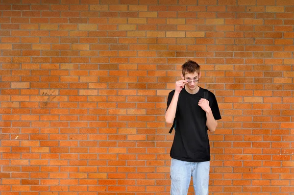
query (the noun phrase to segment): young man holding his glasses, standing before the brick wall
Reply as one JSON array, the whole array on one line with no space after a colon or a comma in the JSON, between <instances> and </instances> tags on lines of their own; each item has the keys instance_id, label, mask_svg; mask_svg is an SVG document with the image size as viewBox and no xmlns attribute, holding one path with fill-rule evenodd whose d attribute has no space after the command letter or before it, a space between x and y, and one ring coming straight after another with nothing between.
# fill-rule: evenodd
<instances>
[{"instance_id":1,"label":"young man holding his glasses, standing before the brick wall","mask_svg":"<svg viewBox=\"0 0 294 195\"><path fill-rule=\"evenodd\" d=\"M215 95L198 86L201 73L196 62L184 63L181 77L169 94L165 115L167 123L175 119L170 153L171 195L187 195L191 176L195 194L208 195L210 146L207 130L216 130L221 114ZM204 95L208 95L208 100Z\"/></svg>"}]
</instances>

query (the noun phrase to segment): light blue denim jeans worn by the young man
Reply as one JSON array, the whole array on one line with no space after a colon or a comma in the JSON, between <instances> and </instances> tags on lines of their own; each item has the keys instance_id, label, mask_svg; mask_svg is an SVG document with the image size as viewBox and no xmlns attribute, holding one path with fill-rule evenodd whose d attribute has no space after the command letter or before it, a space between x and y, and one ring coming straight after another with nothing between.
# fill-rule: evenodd
<instances>
[{"instance_id":1,"label":"light blue denim jeans worn by the young man","mask_svg":"<svg viewBox=\"0 0 294 195\"><path fill-rule=\"evenodd\" d=\"M208 195L210 161L186 162L172 158L171 195L187 195L193 178L195 195Z\"/></svg>"}]
</instances>

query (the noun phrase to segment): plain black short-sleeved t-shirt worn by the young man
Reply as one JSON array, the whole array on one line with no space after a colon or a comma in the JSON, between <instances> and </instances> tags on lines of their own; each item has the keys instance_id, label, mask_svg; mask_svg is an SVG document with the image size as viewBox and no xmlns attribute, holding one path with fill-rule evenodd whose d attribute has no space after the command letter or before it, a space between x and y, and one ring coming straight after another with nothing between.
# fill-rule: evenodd
<instances>
[{"instance_id":1,"label":"plain black short-sleeved t-shirt worn by the young man","mask_svg":"<svg viewBox=\"0 0 294 195\"><path fill-rule=\"evenodd\" d=\"M180 102L176 113L175 133L171 148L171 157L188 162L210 160L210 146L206 126L205 111L198 105L205 89L189 94L185 88L180 93ZM169 93L169 107L174 91ZM215 95L208 91L208 100L215 120L221 119L220 109Z\"/></svg>"}]
</instances>

